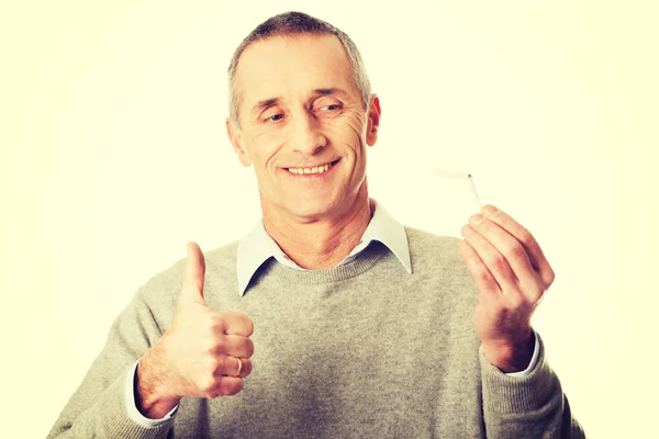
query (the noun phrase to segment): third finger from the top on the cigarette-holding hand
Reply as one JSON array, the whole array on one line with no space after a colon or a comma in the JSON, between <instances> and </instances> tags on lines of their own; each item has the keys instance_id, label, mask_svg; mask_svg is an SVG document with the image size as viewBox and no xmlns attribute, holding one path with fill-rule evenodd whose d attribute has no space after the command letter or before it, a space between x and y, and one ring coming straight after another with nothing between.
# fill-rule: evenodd
<instances>
[{"instance_id":1,"label":"third finger from the top on the cigarette-holding hand","mask_svg":"<svg viewBox=\"0 0 659 439\"><path fill-rule=\"evenodd\" d=\"M462 226L461 233L467 243L478 254L480 262L487 267L489 273L494 278L499 290L505 295L516 291L517 278L503 255L470 225Z\"/></svg>"}]
</instances>

